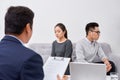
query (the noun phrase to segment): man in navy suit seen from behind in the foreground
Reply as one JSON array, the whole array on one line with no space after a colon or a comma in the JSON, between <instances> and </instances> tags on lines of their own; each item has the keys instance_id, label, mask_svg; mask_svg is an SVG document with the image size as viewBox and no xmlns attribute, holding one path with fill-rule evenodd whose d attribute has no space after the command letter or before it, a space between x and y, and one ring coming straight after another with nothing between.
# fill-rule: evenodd
<instances>
[{"instance_id":1,"label":"man in navy suit seen from behind in the foreground","mask_svg":"<svg viewBox=\"0 0 120 80\"><path fill-rule=\"evenodd\" d=\"M0 42L0 80L43 80L43 60L26 48L32 35L34 13L10 7L5 15L5 36Z\"/></svg>"}]
</instances>

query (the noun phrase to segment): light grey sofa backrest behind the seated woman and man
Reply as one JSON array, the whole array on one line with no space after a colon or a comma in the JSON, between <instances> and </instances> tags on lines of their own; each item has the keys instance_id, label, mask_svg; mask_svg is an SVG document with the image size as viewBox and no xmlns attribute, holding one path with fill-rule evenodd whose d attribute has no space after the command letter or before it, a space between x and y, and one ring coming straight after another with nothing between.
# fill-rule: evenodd
<instances>
[{"instance_id":1,"label":"light grey sofa backrest behind the seated woman and man","mask_svg":"<svg viewBox=\"0 0 120 80\"><path fill-rule=\"evenodd\" d=\"M110 45L108 43L100 43L100 45L106 56L109 57L109 55L112 53ZM75 46L76 43L73 43L72 61L76 59ZM32 43L29 45L29 47L42 56L44 63L51 55L52 43Z\"/></svg>"}]
</instances>

